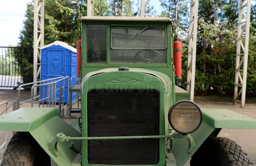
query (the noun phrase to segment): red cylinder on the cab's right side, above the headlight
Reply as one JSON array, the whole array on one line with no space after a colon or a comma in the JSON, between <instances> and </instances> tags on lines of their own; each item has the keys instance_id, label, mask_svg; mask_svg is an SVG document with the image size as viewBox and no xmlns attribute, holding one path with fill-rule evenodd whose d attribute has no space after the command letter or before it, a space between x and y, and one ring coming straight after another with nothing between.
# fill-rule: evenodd
<instances>
[{"instance_id":1,"label":"red cylinder on the cab's right side, above the headlight","mask_svg":"<svg viewBox=\"0 0 256 166\"><path fill-rule=\"evenodd\" d=\"M181 42L179 38L174 38L173 42L173 64L175 68L175 79L181 79Z\"/></svg>"}]
</instances>

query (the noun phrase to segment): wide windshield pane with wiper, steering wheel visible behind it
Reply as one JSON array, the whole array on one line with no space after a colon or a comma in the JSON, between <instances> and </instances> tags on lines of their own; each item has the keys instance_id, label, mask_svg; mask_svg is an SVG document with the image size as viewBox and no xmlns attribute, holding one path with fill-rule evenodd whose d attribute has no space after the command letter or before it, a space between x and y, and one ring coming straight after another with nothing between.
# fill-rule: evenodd
<instances>
[{"instance_id":1,"label":"wide windshield pane with wiper, steering wheel visible behind it","mask_svg":"<svg viewBox=\"0 0 256 166\"><path fill-rule=\"evenodd\" d=\"M110 62L166 63L164 28L111 28Z\"/></svg>"}]
</instances>

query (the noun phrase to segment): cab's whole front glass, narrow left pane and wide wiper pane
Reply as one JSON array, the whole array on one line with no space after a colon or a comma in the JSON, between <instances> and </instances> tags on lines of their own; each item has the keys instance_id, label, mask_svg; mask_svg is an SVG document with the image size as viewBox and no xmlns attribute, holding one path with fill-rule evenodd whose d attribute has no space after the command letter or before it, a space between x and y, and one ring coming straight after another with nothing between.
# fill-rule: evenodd
<instances>
[{"instance_id":1,"label":"cab's whole front glass, narrow left pane and wide wiper pane","mask_svg":"<svg viewBox=\"0 0 256 166\"><path fill-rule=\"evenodd\" d=\"M165 28L111 27L110 30L111 39L107 40L106 25L87 25L87 63L107 63L108 51L110 63L167 63Z\"/></svg>"}]
</instances>

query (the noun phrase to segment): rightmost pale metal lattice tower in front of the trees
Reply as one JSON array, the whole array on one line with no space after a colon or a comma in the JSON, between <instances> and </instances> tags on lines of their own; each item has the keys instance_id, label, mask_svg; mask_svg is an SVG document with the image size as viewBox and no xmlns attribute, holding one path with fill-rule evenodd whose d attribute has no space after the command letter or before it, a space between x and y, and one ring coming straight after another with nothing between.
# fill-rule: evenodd
<instances>
[{"instance_id":1,"label":"rightmost pale metal lattice tower in front of the trees","mask_svg":"<svg viewBox=\"0 0 256 166\"><path fill-rule=\"evenodd\" d=\"M238 13L238 31L237 31L238 35L237 35L237 45L236 45L234 104L236 102L241 102L241 108L244 107L244 103L245 103L249 31L250 31L250 14L251 14L251 0L240 0L239 13ZM243 64L243 68L241 69L242 64ZM242 75L241 75L241 72L242 72ZM240 87L239 92L238 92L238 87ZM240 95L241 95L241 101L238 100Z\"/></svg>"}]
</instances>

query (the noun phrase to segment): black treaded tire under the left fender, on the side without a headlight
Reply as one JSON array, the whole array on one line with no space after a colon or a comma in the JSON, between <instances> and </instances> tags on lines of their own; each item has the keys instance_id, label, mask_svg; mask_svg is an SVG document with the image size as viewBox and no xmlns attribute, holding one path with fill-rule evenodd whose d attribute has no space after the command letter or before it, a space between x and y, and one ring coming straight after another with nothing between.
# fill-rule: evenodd
<instances>
[{"instance_id":1,"label":"black treaded tire under the left fender, on the side without a headlight","mask_svg":"<svg viewBox=\"0 0 256 166\"><path fill-rule=\"evenodd\" d=\"M1 166L50 166L50 156L29 132L13 135L4 152Z\"/></svg>"}]
</instances>

